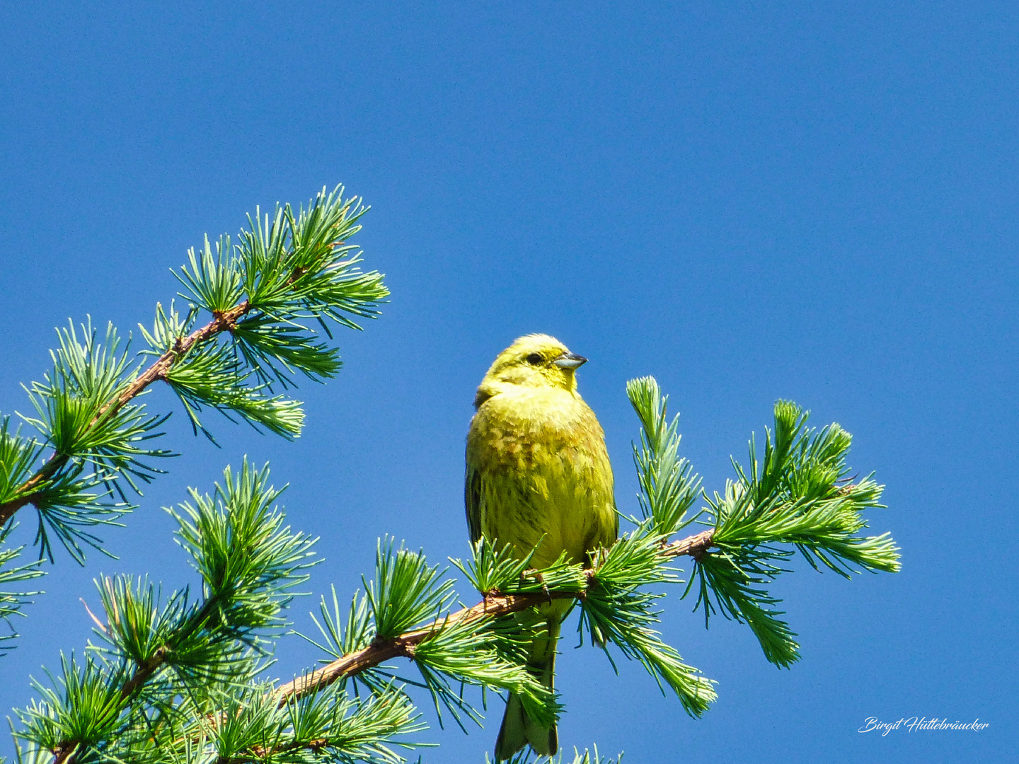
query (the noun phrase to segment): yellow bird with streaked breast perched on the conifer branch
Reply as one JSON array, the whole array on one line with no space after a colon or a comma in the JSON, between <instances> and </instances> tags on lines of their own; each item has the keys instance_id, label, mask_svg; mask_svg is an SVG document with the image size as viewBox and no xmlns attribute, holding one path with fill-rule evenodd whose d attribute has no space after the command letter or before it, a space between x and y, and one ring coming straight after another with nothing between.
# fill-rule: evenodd
<instances>
[{"instance_id":1,"label":"yellow bird with streaked breast perched on the conifer branch","mask_svg":"<svg viewBox=\"0 0 1019 764\"><path fill-rule=\"evenodd\" d=\"M619 534L612 468L605 434L577 392L577 369L587 361L547 334L520 337L498 354L474 398L467 434L464 495L471 541L484 536L512 544L519 559L537 550L533 567L566 552L588 564L589 553ZM536 608L539 626L529 668L552 687L559 624L573 606L557 600ZM511 695L495 741L497 759L530 744L551 756L554 724L531 719Z\"/></svg>"}]
</instances>

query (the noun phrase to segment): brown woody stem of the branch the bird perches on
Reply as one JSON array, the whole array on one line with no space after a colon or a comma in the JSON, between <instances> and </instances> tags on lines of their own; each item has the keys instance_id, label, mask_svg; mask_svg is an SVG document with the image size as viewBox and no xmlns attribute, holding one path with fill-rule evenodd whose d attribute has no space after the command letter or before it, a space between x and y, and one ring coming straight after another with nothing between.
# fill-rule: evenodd
<instances>
[{"instance_id":1,"label":"brown woody stem of the branch the bird perches on","mask_svg":"<svg viewBox=\"0 0 1019 764\"><path fill-rule=\"evenodd\" d=\"M697 558L703 555L714 543L714 529L689 536L663 547L663 552L669 557L690 555ZM594 577L594 571L587 571L588 580ZM535 592L533 594L489 594L477 605L465 607L442 618L436 618L427 626L407 632L389 639L377 638L371 645L361 650L337 658L328 665L316 669L309 674L299 676L276 689L275 695L282 705L291 698L301 698L328 687L344 676L353 676L373 668L383 661L399 656L413 657L414 648L433 636L436 631L454 623L470 623L487 617L498 617L520 612L529 607L540 605L551 599L568 599L582 596L581 592Z\"/></svg>"}]
</instances>

